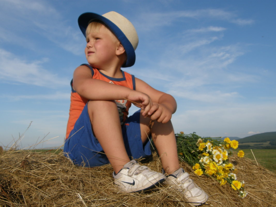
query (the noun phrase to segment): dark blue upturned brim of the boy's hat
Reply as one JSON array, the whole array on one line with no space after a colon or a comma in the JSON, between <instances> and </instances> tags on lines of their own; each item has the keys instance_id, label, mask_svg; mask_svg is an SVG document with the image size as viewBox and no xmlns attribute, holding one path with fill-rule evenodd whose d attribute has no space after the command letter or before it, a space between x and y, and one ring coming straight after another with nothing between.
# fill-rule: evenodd
<instances>
[{"instance_id":1,"label":"dark blue upturned brim of the boy's hat","mask_svg":"<svg viewBox=\"0 0 276 207\"><path fill-rule=\"evenodd\" d=\"M131 67L132 65L134 65L136 56L135 56L135 51L132 44L130 43L128 38L124 35L124 33L120 30L120 28L117 25L115 25L113 22L111 22L109 19L103 17L102 15L91 13L91 12L86 12L81 14L78 18L78 24L83 35L86 37L86 28L88 26L88 23L93 19L100 20L103 23L105 23L105 25L108 26L108 28L114 33L114 35L124 46L127 60L125 64L122 65L122 67Z\"/></svg>"}]
</instances>

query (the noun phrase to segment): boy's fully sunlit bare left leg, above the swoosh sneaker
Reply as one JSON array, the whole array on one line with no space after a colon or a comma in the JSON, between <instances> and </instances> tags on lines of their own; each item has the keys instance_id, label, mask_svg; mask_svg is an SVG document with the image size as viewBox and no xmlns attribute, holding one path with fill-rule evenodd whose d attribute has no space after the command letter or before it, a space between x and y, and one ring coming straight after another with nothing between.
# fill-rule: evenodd
<instances>
[{"instance_id":1,"label":"boy's fully sunlit bare left leg, above the swoosh sneaker","mask_svg":"<svg viewBox=\"0 0 276 207\"><path fill-rule=\"evenodd\" d=\"M118 109L114 101L88 102L88 113L95 137L103 148L115 173L128 163Z\"/></svg>"}]
</instances>

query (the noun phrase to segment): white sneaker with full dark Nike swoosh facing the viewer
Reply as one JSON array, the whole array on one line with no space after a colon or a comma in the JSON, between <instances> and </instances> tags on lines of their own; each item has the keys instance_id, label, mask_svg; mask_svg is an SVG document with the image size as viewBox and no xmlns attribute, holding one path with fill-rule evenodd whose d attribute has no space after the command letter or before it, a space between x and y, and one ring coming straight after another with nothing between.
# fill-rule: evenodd
<instances>
[{"instance_id":1,"label":"white sneaker with full dark Nike swoosh facing the viewer","mask_svg":"<svg viewBox=\"0 0 276 207\"><path fill-rule=\"evenodd\" d=\"M141 166L135 160L126 163L116 175L113 172L113 177L115 185L128 193L150 189L166 179L162 173Z\"/></svg>"}]
</instances>

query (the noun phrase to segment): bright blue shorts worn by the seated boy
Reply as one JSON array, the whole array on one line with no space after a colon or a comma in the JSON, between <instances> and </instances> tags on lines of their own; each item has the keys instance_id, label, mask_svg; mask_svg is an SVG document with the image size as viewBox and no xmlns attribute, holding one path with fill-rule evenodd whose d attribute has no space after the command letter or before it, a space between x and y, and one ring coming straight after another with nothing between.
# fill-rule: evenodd
<instances>
[{"instance_id":1,"label":"bright blue shorts worn by the seated boy","mask_svg":"<svg viewBox=\"0 0 276 207\"><path fill-rule=\"evenodd\" d=\"M140 110L129 116L122 126L124 145L130 159L151 155L150 142L141 140ZM112 132L110 132L112 135ZM96 167L109 164L102 146L92 132L87 104L65 140L63 152L74 164L84 167Z\"/></svg>"}]
</instances>

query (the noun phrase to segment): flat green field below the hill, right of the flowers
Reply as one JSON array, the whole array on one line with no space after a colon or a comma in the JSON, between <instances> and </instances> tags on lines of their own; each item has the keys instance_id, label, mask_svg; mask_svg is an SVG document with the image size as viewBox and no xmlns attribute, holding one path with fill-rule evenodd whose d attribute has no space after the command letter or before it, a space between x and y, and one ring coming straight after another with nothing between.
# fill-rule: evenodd
<instances>
[{"instance_id":1,"label":"flat green field below the hill, right of the flowers","mask_svg":"<svg viewBox=\"0 0 276 207\"><path fill-rule=\"evenodd\" d=\"M235 150L238 152L237 149ZM275 149L252 149L252 154L250 149L242 149L245 153L245 157L250 158L251 160L254 160L254 156L258 162L258 164L264 166L265 168L273 171L276 173L276 150Z\"/></svg>"}]
</instances>

